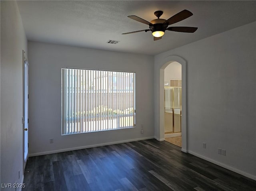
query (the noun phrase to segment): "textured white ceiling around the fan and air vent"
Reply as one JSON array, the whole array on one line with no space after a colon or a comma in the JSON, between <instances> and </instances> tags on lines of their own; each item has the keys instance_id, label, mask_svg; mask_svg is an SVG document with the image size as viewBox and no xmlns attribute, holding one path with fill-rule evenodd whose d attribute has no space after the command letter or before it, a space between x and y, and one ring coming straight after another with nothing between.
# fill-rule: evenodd
<instances>
[{"instance_id":1,"label":"textured white ceiling around the fan and air vent","mask_svg":"<svg viewBox=\"0 0 256 191\"><path fill-rule=\"evenodd\" d=\"M158 53L198 41L256 21L256 1L17 1L26 36L30 41L74 45L110 51ZM166 31L153 41L151 32L121 33L148 29L128 18L163 19L187 9L194 15L172 26L198 27L195 33ZM118 44L106 43L109 39Z\"/></svg>"}]
</instances>

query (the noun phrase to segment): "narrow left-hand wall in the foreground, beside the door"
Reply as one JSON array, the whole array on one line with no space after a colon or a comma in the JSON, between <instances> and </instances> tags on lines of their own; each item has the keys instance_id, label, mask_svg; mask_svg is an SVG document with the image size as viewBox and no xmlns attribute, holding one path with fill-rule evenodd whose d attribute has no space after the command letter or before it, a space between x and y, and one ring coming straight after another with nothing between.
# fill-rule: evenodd
<instances>
[{"instance_id":1,"label":"narrow left-hand wall in the foreground, beside the door","mask_svg":"<svg viewBox=\"0 0 256 191\"><path fill-rule=\"evenodd\" d=\"M0 3L1 183L22 183L22 49L27 50L27 39L16 1Z\"/></svg>"}]
</instances>

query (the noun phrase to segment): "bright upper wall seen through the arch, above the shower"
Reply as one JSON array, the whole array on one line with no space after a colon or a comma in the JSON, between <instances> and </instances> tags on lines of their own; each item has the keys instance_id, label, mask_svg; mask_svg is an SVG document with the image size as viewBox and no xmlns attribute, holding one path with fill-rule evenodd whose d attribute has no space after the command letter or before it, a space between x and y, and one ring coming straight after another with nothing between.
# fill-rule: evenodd
<instances>
[{"instance_id":1,"label":"bright upper wall seen through the arch, above the shower","mask_svg":"<svg viewBox=\"0 0 256 191\"><path fill-rule=\"evenodd\" d=\"M181 80L180 63L172 62L164 69L164 83L170 84L170 79Z\"/></svg>"}]
</instances>

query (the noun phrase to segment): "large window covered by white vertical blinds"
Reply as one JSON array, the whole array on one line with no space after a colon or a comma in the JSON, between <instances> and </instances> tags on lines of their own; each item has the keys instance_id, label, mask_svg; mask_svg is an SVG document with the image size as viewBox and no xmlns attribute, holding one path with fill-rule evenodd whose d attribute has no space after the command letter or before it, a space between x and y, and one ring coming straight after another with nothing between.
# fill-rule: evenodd
<instances>
[{"instance_id":1,"label":"large window covered by white vertical blinds","mask_svg":"<svg viewBox=\"0 0 256 191\"><path fill-rule=\"evenodd\" d=\"M135 126L135 73L62 68L62 135Z\"/></svg>"}]
</instances>

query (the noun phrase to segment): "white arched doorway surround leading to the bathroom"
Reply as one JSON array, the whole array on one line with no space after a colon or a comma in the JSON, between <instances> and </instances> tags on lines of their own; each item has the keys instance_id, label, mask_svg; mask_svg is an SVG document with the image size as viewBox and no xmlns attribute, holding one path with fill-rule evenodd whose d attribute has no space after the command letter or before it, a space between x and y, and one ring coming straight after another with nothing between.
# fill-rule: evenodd
<instances>
[{"instance_id":1,"label":"white arched doorway surround leading to the bathroom","mask_svg":"<svg viewBox=\"0 0 256 191\"><path fill-rule=\"evenodd\" d=\"M164 69L172 62L178 62L182 66L182 116L181 116L181 131L182 131L182 151L188 152L187 144L187 96L186 96L186 61L176 55L168 56L165 58L157 59L156 63L159 66L158 79L156 79L158 84L156 84L156 112L159 112L156 115L156 125L159 129L156 131L156 139L163 141L164 139Z\"/></svg>"}]
</instances>

